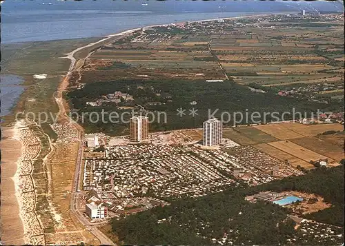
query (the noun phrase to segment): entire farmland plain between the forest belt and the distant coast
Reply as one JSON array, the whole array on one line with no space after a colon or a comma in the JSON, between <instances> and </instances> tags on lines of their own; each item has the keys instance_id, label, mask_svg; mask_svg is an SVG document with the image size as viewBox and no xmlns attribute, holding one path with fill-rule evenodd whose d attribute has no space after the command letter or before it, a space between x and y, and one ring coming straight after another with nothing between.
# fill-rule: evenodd
<instances>
[{"instance_id":1,"label":"entire farmland plain between the forest belt and the distant coast","mask_svg":"<svg viewBox=\"0 0 345 246\"><path fill-rule=\"evenodd\" d=\"M268 86L341 82L343 35L344 24L337 17L301 19L286 15L143 28L93 52L84 65L81 83L117 76L228 76L244 85ZM102 66L105 61L108 65ZM114 62L125 65L112 65Z\"/></svg>"}]
</instances>

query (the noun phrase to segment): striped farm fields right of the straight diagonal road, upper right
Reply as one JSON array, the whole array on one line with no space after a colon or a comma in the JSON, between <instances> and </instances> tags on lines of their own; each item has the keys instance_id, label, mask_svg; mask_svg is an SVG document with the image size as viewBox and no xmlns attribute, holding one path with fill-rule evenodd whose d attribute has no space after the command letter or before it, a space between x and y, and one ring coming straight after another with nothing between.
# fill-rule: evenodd
<instances>
[{"instance_id":1,"label":"striped farm fields right of the straight diagonal road, upper right","mask_svg":"<svg viewBox=\"0 0 345 246\"><path fill-rule=\"evenodd\" d=\"M344 68L344 64L338 62L344 59L344 49L338 47L342 42L340 35L344 33L341 25L331 30L315 23L317 28L306 29L299 28L304 25L302 20L295 21L293 26L282 25L282 22L267 21L259 27L247 25L242 30L257 35L234 35L227 43L213 40L210 47L237 83L269 86L298 81L320 83L331 78L333 82L344 81L344 74L335 72ZM335 43L330 44L330 39Z\"/></svg>"}]
</instances>

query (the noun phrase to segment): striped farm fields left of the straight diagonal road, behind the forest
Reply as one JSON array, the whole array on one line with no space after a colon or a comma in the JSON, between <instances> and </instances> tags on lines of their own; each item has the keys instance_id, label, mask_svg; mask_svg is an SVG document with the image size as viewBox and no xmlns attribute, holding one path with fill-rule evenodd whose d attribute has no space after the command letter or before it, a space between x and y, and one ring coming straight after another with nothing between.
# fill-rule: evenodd
<instances>
[{"instance_id":1,"label":"striped farm fields left of the straight diagonal road, behind the forest","mask_svg":"<svg viewBox=\"0 0 345 246\"><path fill-rule=\"evenodd\" d=\"M130 76L131 78L133 74L150 78L153 75L152 72L155 72L155 77L161 74L168 78L225 79L221 68L208 50L208 41L184 40L173 41L171 45L161 45L166 42L152 39L128 45L115 42L93 53L85 65L85 70L87 74L123 72L122 77ZM99 61L107 61L110 65L102 68L99 64L100 66L97 68L96 65L95 68L95 64ZM112 63L124 65L111 65Z\"/></svg>"}]
</instances>

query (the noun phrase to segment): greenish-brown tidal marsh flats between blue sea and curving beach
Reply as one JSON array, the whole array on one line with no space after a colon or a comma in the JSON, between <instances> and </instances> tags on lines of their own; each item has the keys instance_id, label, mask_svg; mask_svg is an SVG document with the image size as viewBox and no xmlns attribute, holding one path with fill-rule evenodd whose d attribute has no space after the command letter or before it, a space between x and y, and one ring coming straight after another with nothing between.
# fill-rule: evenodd
<instances>
[{"instance_id":1,"label":"greenish-brown tidal marsh flats between blue sea and curving beach","mask_svg":"<svg viewBox=\"0 0 345 246\"><path fill-rule=\"evenodd\" d=\"M17 112L51 113L55 116L58 107L53 94L70 66L66 55L76 48L95 42L100 38L66 39L58 41L37 41L27 43L1 44L1 72L23 78L25 91L19 96L12 112L3 116L1 125L8 125L16 119ZM46 79L35 79L34 74L46 74ZM52 117L48 118L52 122Z\"/></svg>"}]
</instances>

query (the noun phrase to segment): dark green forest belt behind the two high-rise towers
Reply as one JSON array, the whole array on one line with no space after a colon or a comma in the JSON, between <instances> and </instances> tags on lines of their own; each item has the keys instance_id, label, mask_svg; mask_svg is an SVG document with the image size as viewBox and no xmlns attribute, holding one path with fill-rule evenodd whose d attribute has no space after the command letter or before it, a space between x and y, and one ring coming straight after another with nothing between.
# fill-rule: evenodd
<instances>
[{"instance_id":1,"label":"dark green forest belt behind the two high-rise towers","mask_svg":"<svg viewBox=\"0 0 345 246\"><path fill-rule=\"evenodd\" d=\"M102 95L121 91L133 96L134 101L120 103L106 103L99 107L86 105L88 101L96 101ZM251 92L248 87L239 85L233 81L208 83L200 81L179 81L179 80L121 80L88 83L81 90L71 90L67 94L67 99L71 106L82 114L83 112L123 112L118 109L119 106L137 106L145 108L146 112L164 112L167 122L154 121L150 123L150 131L178 130L186 128L201 127L202 122L208 119L210 114L217 111L214 116L222 119L224 125L232 126L235 124L255 123L250 119L253 112L258 112L261 117L255 121L263 121L264 112L311 112L326 111L339 112L342 110L342 103L332 101L328 104L307 101L306 99L293 99L286 96L277 96L273 90L267 93ZM189 115L192 108L197 110L197 115ZM177 115L177 109L186 110L183 116ZM124 110L126 111L126 110ZM127 110L130 111L130 110ZM248 112L248 120L245 116L234 116L234 112ZM223 117L221 117L223 116ZM278 116L279 117L279 116ZM288 114L284 120L288 120ZM270 115L266 116L266 121L275 120ZM257 122L256 122L257 123ZM83 123L86 132L103 131L106 134L115 136L124 134L128 127L126 123L90 123L87 119Z\"/></svg>"}]
</instances>

